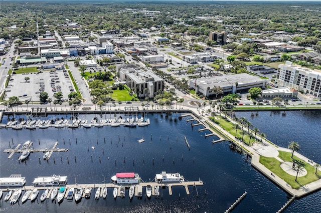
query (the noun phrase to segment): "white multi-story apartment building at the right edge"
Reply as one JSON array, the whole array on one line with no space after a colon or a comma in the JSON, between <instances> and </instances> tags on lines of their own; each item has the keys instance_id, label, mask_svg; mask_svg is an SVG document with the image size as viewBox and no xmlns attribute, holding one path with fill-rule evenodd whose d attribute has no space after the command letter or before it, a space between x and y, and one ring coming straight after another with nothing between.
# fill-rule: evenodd
<instances>
[{"instance_id":1,"label":"white multi-story apartment building at the right edge","mask_svg":"<svg viewBox=\"0 0 321 213\"><path fill-rule=\"evenodd\" d=\"M286 61L279 64L277 69L277 82L305 93L321 97L321 70L309 69Z\"/></svg>"}]
</instances>

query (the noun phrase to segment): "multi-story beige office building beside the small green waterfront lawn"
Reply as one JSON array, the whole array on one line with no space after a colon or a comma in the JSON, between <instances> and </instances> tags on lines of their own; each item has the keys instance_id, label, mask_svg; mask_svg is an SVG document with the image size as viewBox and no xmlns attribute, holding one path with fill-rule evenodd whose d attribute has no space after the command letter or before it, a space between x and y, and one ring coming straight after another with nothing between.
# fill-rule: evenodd
<instances>
[{"instance_id":1,"label":"multi-story beige office building beside the small green waterfront lawn","mask_svg":"<svg viewBox=\"0 0 321 213\"><path fill-rule=\"evenodd\" d=\"M158 90L164 90L164 80L151 71L144 71L133 64L117 65L119 79L125 81L139 97L154 97Z\"/></svg>"}]
</instances>

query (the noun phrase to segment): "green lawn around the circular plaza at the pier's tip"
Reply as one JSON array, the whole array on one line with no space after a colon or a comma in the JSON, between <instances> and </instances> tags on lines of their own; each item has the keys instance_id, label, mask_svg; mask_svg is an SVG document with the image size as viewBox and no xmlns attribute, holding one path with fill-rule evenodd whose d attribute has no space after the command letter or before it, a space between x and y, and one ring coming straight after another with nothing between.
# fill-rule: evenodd
<instances>
[{"instance_id":1,"label":"green lawn around the circular plaza at the pier's tip","mask_svg":"<svg viewBox=\"0 0 321 213\"><path fill-rule=\"evenodd\" d=\"M284 161L292 161L291 158L292 153L286 152L286 151L279 151L278 157L283 159ZM293 155L294 159L299 159L295 155ZM275 173L277 176L284 179L285 182L289 183L293 188L298 188L301 185L305 185L307 183L313 182L315 180L319 179L319 176L321 176L321 171L317 171L317 175L315 175L315 168L311 166L310 164L305 163L304 168L307 171L307 174L302 177L297 177L297 182L295 181L295 176L292 176L288 173L286 173L281 167L281 162L278 161L274 157L265 157L260 156L260 163L262 163L265 167L267 167L269 170L271 170L273 173Z\"/></svg>"}]
</instances>

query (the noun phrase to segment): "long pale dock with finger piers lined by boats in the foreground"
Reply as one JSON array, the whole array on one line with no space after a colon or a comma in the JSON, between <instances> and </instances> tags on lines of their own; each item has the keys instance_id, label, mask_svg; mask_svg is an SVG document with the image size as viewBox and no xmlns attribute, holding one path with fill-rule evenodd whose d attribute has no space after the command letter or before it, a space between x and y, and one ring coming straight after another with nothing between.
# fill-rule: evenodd
<instances>
[{"instance_id":1,"label":"long pale dock with finger piers lined by boats in the foreground","mask_svg":"<svg viewBox=\"0 0 321 213\"><path fill-rule=\"evenodd\" d=\"M196 185L203 185L203 181L202 180L197 180L197 181L181 181L181 182L169 182L169 183L159 183L159 182L140 182L137 184L133 184L135 186L135 193L134 196L138 196L137 194L137 189L138 186L142 186L142 187L146 187L147 185L151 185L152 187L152 195L155 195L155 191L154 191L154 186L161 186L161 187L168 187L169 188L169 194L173 195L173 191L172 191L172 187L173 186L183 186L185 187L186 193L189 195L190 194L190 190L188 188L188 186L196 186ZM92 189L96 189L98 187L104 187L106 186L108 188L108 190L113 189L114 187L118 187L118 189L120 188L121 185L118 184L114 184L114 183L89 183L89 184L67 184L65 185L67 188L78 188L78 187L83 187L84 191L82 194L82 197L85 197L85 188L86 187L91 187ZM125 187L130 187L131 184L128 185L122 185ZM49 189L48 195L47 195L47 199L50 198L51 192L53 190L54 187L58 187L59 186L33 186L33 185L28 185L28 186L22 186L22 187L15 187L15 188L4 188L2 189L3 191L9 191L9 190L16 190L18 188L21 188L22 190L33 190L34 188L37 188L38 190L45 190L45 189ZM101 189L100 191L100 197L102 197L102 192L103 190ZM67 192L65 194L64 198L67 198ZM109 194L111 194L111 192L109 191ZM31 194L30 194L31 195ZM12 195L13 196L13 195ZM39 195L41 196L41 194ZM110 196L110 195L109 195ZM120 196L120 190L118 190L118 194L117 196ZM31 196L30 196L31 197ZM28 199L30 199L30 197ZM11 199L12 197L10 197Z\"/></svg>"}]
</instances>

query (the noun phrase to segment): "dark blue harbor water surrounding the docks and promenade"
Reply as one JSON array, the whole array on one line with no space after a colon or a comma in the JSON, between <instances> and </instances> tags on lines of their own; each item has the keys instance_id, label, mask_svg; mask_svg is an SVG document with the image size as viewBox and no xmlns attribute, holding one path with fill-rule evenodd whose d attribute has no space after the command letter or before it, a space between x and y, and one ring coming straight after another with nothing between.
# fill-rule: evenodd
<instances>
[{"instance_id":1,"label":"dark blue harbor water surrounding the docks and promenade","mask_svg":"<svg viewBox=\"0 0 321 213\"><path fill-rule=\"evenodd\" d=\"M275 142L278 145L284 142L286 146L289 139L284 134L287 134L291 137L290 140L300 142L301 153L315 161L321 161L318 153L320 129L316 131L315 127L321 121L320 113L308 112L312 114L306 115L303 112L287 112L286 116L273 115L271 118L269 112L259 112L259 115L253 119L250 113L246 113L240 112L239 114L238 112L237 116L248 117L254 126L262 131L264 131L264 126L267 126L269 130L275 126L274 130L271 130L273 133L264 131L268 139L274 141L277 138ZM93 116L95 115L87 115L86 119L90 120ZM172 116L176 117L175 114ZM20 201L20 203L10 205L2 199L0 210L3 212L21 212L26 209L32 212L224 212L244 191L247 191L245 198L236 206L235 212L276 212L289 199L290 196L287 193L251 167L250 157L230 150L229 142L224 141L212 145L212 140L217 138L215 136L205 138L204 134L209 132L198 132L198 128L202 126L192 128L190 122L186 121L190 117L183 117L182 120L177 121L170 119L171 116L166 117L157 113L149 113L147 117L151 124L136 128L124 126L36 130L2 128L0 129L0 176L22 174L26 176L27 185L30 185L37 176L52 174L68 175L69 183L74 183L76 178L78 183L103 184L104 177L106 177L106 182L109 182L112 175L122 171L137 172L144 181L149 181L149 178L152 180L155 173L161 171L180 172L189 181L199 178L203 180L204 185L197 186L198 196L193 186L189 188L190 195L186 194L184 187L176 186L172 188L172 196L169 195L167 188L163 189L163 200L155 197L150 199L134 197L130 201L128 191L126 191L125 198L117 197L114 200L112 189L109 189L105 200L100 198L95 201L91 196L90 199L82 199L78 204L67 200L58 204L49 199L40 202L38 198L39 201L33 203L28 200L24 204ZM315 122L309 122L308 117L313 118ZM284 119L291 122L290 118L300 123L301 126L279 125ZM7 122L6 119L7 117L4 117L3 123ZM266 124L259 119L271 119L271 122ZM274 120L278 121L273 124ZM304 121L306 123L303 123ZM315 130L314 135L305 132L304 141L292 137L293 134L299 136L301 129L307 128L306 126L310 124L310 128ZM308 131L311 132L311 129ZM187 137L191 149L188 149L184 136ZM314 140L316 136L318 138ZM142 137L145 142L137 142ZM280 137L285 138L285 141ZM16 153L8 159L9 154L3 152L4 149L9 148L9 141L12 139L14 146L32 139L34 148L52 147L58 140L58 147L68 148L69 151L54 152L48 161L42 160L43 153L31 153L26 162L20 163L17 160L20 154ZM305 145L310 141L312 144ZM92 149L92 146L95 149ZM39 163L39 157L41 163ZM152 158L154 158L154 163L152 163ZM320 212L321 201L317 198L320 195L318 191L294 200L284 212Z\"/></svg>"}]
</instances>

